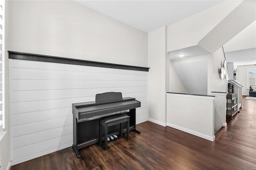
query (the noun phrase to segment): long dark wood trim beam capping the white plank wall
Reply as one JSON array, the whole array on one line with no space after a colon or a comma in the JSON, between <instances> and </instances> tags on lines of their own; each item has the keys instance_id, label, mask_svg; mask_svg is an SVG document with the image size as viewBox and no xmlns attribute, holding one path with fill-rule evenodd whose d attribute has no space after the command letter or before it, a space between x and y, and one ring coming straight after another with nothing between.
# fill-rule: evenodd
<instances>
[{"instance_id":1,"label":"long dark wood trim beam capping the white plank wall","mask_svg":"<svg viewBox=\"0 0 256 170\"><path fill-rule=\"evenodd\" d=\"M9 53L9 59L16 59L16 60L41 61L41 62L49 62L49 63L74 64L74 65L82 65L82 66L95 66L95 67L117 68L117 69L138 70L138 71L148 71L149 69L148 67L102 63L97 61L70 59L70 58L64 58L64 57L21 53L21 52L15 52L15 51L8 51L8 53Z\"/></svg>"}]
</instances>

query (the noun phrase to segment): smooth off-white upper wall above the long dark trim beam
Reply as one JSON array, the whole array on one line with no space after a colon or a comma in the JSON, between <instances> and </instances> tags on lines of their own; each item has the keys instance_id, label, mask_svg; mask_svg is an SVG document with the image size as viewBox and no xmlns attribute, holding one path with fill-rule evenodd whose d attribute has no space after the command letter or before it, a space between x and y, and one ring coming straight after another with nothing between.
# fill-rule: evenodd
<instances>
[{"instance_id":1,"label":"smooth off-white upper wall above the long dark trim beam","mask_svg":"<svg viewBox=\"0 0 256 170\"><path fill-rule=\"evenodd\" d=\"M9 49L147 66L147 33L73 1L10 1Z\"/></svg>"}]
</instances>

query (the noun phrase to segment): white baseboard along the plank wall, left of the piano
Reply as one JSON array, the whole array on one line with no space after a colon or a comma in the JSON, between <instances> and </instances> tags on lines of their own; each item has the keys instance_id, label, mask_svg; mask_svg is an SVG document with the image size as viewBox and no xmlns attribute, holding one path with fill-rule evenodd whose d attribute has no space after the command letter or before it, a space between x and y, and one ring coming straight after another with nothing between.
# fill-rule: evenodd
<instances>
[{"instance_id":1,"label":"white baseboard along the plank wall, left of the piano","mask_svg":"<svg viewBox=\"0 0 256 170\"><path fill-rule=\"evenodd\" d=\"M20 164L22 162L26 162L26 161L34 159L34 158L38 158L40 156L44 156L46 154L50 154L52 152L56 152L58 150L62 150L62 149L71 147L72 145L73 145L73 143L68 143L68 144L61 145L61 146L58 146L58 147L55 147L55 148L52 148L52 149L44 150L43 152L32 154L32 155L29 155L29 156L26 156L26 157L23 157L23 158L20 158L20 159L12 160L11 161L11 166L16 165L16 164Z\"/></svg>"}]
</instances>

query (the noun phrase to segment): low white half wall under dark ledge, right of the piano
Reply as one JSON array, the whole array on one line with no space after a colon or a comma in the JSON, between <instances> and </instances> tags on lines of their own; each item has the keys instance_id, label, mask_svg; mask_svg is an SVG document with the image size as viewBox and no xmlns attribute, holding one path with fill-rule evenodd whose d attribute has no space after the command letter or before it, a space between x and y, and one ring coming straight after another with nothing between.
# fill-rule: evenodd
<instances>
[{"instance_id":1,"label":"low white half wall under dark ledge, right of the piano","mask_svg":"<svg viewBox=\"0 0 256 170\"><path fill-rule=\"evenodd\" d=\"M167 94L167 125L214 141L214 97ZM195 108L196 109L193 109Z\"/></svg>"}]
</instances>

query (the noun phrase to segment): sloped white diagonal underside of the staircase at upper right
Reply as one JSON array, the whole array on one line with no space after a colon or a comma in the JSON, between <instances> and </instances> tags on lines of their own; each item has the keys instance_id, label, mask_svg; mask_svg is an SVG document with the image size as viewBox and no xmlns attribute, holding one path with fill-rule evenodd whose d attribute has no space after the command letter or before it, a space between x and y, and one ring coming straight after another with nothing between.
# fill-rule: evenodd
<instances>
[{"instance_id":1,"label":"sloped white diagonal underside of the staircase at upper right","mask_svg":"<svg viewBox=\"0 0 256 170\"><path fill-rule=\"evenodd\" d=\"M255 20L256 1L244 0L207 33L198 45L214 53Z\"/></svg>"}]
</instances>

